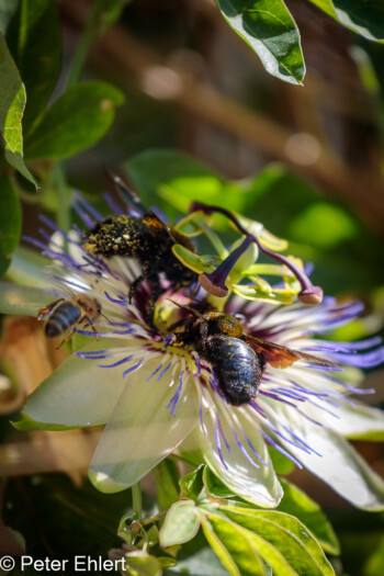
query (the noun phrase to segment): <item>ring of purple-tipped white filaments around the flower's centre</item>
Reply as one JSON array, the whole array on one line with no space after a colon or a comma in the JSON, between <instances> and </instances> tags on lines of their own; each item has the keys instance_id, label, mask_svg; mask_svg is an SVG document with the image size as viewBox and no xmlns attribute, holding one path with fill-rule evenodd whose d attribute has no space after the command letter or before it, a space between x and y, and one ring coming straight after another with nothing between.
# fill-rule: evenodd
<instances>
[{"instance_id":1,"label":"ring of purple-tipped white filaments around the flower's centre","mask_svg":"<svg viewBox=\"0 0 384 576\"><path fill-rule=\"evenodd\" d=\"M113 199L109 199L108 202L112 210L120 211ZM79 194L76 195L74 207L87 226L93 226L94 221L102 219L102 215ZM247 233L238 219L228 211L196 203L194 208L204 210L205 213L210 213L210 211L222 212L237 226L241 234L245 234L242 244L214 272L203 274L212 285L218 286L219 290L227 293L226 278L241 255L251 242L255 242L263 253L285 264L295 274L302 285L301 294L304 297L302 302L305 302L306 297L309 297L309 300L310 297L319 298L320 293L316 286L313 286L306 272L297 269L285 257L267 250L259 239ZM180 354L180 350L176 351L174 348L172 350L176 335L163 334L161 329L156 330L153 327L149 329L144 320L142 324L140 320L137 321L139 314L135 309L135 305L129 304L127 297L129 282L132 282L132 278L135 278L134 268L129 268L131 264L128 262L124 262L124 268L114 268L110 261L106 262L88 255L81 248L81 241L74 239L75 235L64 234L56 224L46 217L42 217L42 222L55 235L61 234L64 241L60 244L60 239L57 236L54 236L53 239L46 230L41 230L46 244L34 238L27 238L29 241L41 248L46 256L61 263L66 272L74 273L72 276L65 278L55 273L52 279L61 286L63 292L77 292L79 294L87 292L87 282L89 281L89 285L92 286L90 290L98 286L100 298L103 298L103 306L105 303L105 315L109 315L109 306L113 310L113 320L109 320L104 316L106 321L102 320L103 329L100 332L98 331L98 335L87 329L77 329L78 334L92 337L115 337L111 347L116 346L117 339L121 342L120 348L103 346L101 350L82 350L74 352L74 355L79 359L95 360L98 362L106 360L108 362L105 363L97 364L100 369L118 369L121 366L121 377L123 379L135 371L139 371L145 366L147 360L158 355L158 364L151 370L149 376L145 375L143 379L149 383L148 386L161 385L171 387L177 382L173 395L165 407L169 409L170 415L176 417L180 403L183 404L183 402L189 400L183 396L187 388L184 384L188 379L194 379L195 385L200 386L200 405L196 421L200 419L201 430L205 436L208 436L208 430L212 430L214 438L210 440L216 444L218 459L225 468L228 470L229 467L225 455L228 458L227 453L230 454L231 450L233 452L237 451L240 455L242 454L247 462L256 468L259 468L260 464L267 465L256 450L251 434L248 436L246 429L241 426L241 419L237 415L241 415L242 411L237 411L237 407L226 403L215 373L206 359L203 358L201 361L197 352L193 349L185 349L185 354ZM81 231L79 231L79 238L81 238ZM76 249L75 252L77 251L81 256L74 256L72 248ZM59 266L55 268L55 271L58 268ZM82 280L83 283L81 283ZM92 284L92 282L94 283ZM334 298L326 297L317 308L304 308L297 304L284 308L284 306L273 307L273 305L260 303L244 303L234 298L228 302L227 310L229 314L241 314L241 323L247 326L249 336L255 336L256 338L286 345L303 352L324 353L326 358L332 361L351 366L372 368L384 361L384 347L380 346L381 339L376 337L362 342L316 341L312 339L314 332L325 335L355 318L362 310L361 303L354 302L339 306ZM129 321L133 317L135 318L135 324ZM129 346L125 346L122 337L128 337ZM303 341L303 348L301 348L301 339L303 337L308 337L309 339ZM134 346L132 346L133 340ZM154 346L154 342L156 342L156 346ZM295 343L298 348L295 348ZM306 454L317 454L318 456L321 454L316 451L316 447L309 445L305 438L300 436L300 432L295 429L294 418L292 418L290 423L282 423L275 416L279 414L279 410L285 410L287 414L297 414L300 418L305 418L312 425L328 430L329 428L321 423L321 410L325 415L339 418L337 414L338 406L353 407L353 402L349 398L350 394L362 395L373 391L355 388L338 381L336 377L337 371L341 370L338 366L304 362L298 362L297 364L294 365L292 371L291 369L285 371L267 366L261 376L258 396L249 402L248 405L241 407L240 410L247 410L247 426L250 420L255 425L253 432L256 430L266 442L298 467L302 467L298 460L290 453L290 447L292 450L297 449ZM147 370L145 374L148 374L148 372ZM177 374L179 375L177 376ZM139 374L137 377L139 377ZM113 385L113 382L111 385ZM129 385L129 380L127 385ZM223 403L226 403L224 409ZM159 409L163 407L159 406ZM310 408L314 411L310 411ZM225 410L223 411L224 428L219 417L219 414L222 415L221 410ZM207 426L205 418L211 418L212 426ZM328 420L331 421L327 417ZM242 423L245 425L245 421ZM260 442L263 442L262 439L260 439Z\"/></svg>"}]
</instances>

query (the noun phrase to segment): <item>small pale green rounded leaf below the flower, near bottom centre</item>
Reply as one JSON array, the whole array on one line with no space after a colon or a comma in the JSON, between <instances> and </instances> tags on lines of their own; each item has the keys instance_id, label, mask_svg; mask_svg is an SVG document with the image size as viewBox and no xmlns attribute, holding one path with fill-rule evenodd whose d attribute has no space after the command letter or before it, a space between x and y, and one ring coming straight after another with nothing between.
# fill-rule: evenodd
<instances>
[{"instance_id":1,"label":"small pale green rounded leaf below the flower, near bottom centre","mask_svg":"<svg viewBox=\"0 0 384 576\"><path fill-rule=\"evenodd\" d=\"M169 509L160 530L162 547L184 544L192 540L200 528L200 520L193 500L180 500Z\"/></svg>"}]
</instances>

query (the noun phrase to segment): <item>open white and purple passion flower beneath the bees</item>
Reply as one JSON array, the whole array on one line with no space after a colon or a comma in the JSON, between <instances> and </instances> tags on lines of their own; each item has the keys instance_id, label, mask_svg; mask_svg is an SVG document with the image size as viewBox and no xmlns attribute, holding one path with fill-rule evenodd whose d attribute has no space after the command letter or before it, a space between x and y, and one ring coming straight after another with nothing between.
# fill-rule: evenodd
<instances>
[{"instance_id":1,"label":"open white and purple passion flower beneath the bees","mask_svg":"<svg viewBox=\"0 0 384 576\"><path fill-rule=\"evenodd\" d=\"M194 347L174 346L171 326L188 316L185 309L163 297L157 304L156 327L148 326L150 294L143 287L132 304L127 298L139 274L137 263L93 257L82 249L79 234L65 235L45 222L54 228L45 233L47 246L35 244L53 260L53 300L86 293L100 302L103 315L95 323L98 338L91 329L78 328L72 355L29 397L24 420L16 426L106 425L89 474L108 493L137 483L179 449L199 451L235 494L275 507L283 493L269 455L271 445L352 504L370 510L384 507L384 482L346 440L383 436L383 414L352 398L371 392L357 386L355 373L383 362L384 348L377 338L326 339L355 318L361 304L338 304L331 297L316 307L229 300L225 312L239 314L249 336L340 365L298 360L281 370L267 364L255 399L235 407L224 399L212 366ZM188 302L183 298L172 295ZM203 296L194 306L204 309Z\"/></svg>"}]
</instances>

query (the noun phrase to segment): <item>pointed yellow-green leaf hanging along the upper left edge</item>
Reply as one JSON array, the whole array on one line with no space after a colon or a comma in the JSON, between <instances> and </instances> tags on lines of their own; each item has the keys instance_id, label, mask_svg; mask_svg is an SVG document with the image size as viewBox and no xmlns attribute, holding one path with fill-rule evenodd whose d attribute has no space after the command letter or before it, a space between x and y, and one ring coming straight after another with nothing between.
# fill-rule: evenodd
<instances>
[{"instance_id":1,"label":"pointed yellow-green leaf hanging along the upper left edge","mask_svg":"<svg viewBox=\"0 0 384 576\"><path fill-rule=\"evenodd\" d=\"M25 88L2 33L0 33L0 133L3 137L5 159L37 188L37 182L23 160L21 121L25 108Z\"/></svg>"}]
</instances>

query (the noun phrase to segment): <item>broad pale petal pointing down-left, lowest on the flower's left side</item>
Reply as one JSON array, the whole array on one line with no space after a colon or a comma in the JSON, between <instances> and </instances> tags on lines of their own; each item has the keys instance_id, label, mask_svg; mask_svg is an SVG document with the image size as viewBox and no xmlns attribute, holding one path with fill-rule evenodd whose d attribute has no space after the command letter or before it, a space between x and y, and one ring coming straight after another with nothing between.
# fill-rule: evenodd
<instances>
[{"instance_id":1,"label":"broad pale petal pointing down-left, lowest on the flower's left side","mask_svg":"<svg viewBox=\"0 0 384 576\"><path fill-rule=\"evenodd\" d=\"M158 366L151 359L133 373L118 398L90 465L90 478L102 492L118 492L138 482L172 452L196 425L199 403L188 377L176 414L166 406L176 393L169 380L147 377Z\"/></svg>"}]
</instances>

